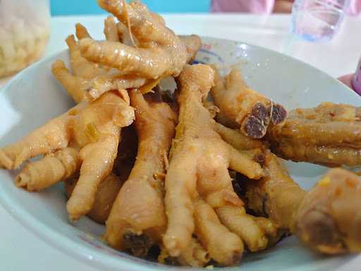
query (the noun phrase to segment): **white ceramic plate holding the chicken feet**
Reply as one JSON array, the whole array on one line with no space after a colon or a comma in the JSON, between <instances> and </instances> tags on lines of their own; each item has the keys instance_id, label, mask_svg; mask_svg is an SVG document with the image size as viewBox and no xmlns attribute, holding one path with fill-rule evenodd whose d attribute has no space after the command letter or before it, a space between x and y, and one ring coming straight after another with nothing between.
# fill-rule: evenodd
<instances>
[{"instance_id":1,"label":"white ceramic plate holding the chicken feet","mask_svg":"<svg viewBox=\"0 0 361 271\"><path fill-rule=\"evenodd\" d=\"M197 61L224 67L239 65L251 88L287 109L314 107L324 101L361 104L360 97L352 90L301 61L242 42L214 38L203 38L203 41ZM30 66L0 92L0 146L15 142L73 106L71 98L51 75L50 66L55 59L68 63L68 52L60 52ZM288 162L287 167L303 188L310 188L326 171L324 167L304 163ZM99 240L104 227L87 217L75 224L69 222L61 184L41 193L28 193L13 185L13 176L13 172L0 170L0 203L25 227L64 253L102 270L177 269L109 248ZM274 248L245 255L241 265L244 271L326 270L330 267L334 270L352 257L324 258L290 237ZM231 269L239 267L225 268Z\"/></svg>"}]
</instances>

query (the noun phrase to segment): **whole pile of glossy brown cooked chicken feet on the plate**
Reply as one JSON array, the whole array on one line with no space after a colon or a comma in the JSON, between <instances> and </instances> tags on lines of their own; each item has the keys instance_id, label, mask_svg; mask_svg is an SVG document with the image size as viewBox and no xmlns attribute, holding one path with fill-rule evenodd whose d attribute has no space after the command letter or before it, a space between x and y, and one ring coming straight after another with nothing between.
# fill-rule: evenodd
<instances>
[{"instance_id":1,"label":"whole pile of glossy brown cooked chicken feet on the plate","mask_svg":"<svg viewBox=\"0 0 361 271\"><path fill-rule=\"evenodd\" d=\"M157 246L160 263L236 265L286 234L321 253L361 251L357 175L331 169L304 191L276 156L361 164L361 109L325 103L287 117L238 68L222 78L190 65L200 37L177 36L139 1L98 2L115 17L104 21L106 40L77 24L77 40L66 39L71 71L52 66L77 104L0 149L5 169L40 156L16 186L64 181L71 221L105 223L106 242L138 257ZM159 86L169 76L173 95Z\"/></svg>"}]
</instances>

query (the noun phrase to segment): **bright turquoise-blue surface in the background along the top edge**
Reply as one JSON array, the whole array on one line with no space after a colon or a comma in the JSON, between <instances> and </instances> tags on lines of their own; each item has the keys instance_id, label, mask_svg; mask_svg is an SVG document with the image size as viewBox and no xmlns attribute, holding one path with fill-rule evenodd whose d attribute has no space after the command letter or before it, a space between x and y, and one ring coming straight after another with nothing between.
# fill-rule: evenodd
<instances>
[{"instance_id":1,"label":"bright turquoise-blue surface in the background along the top edge","mask_svg":"<svg viewBox=\"0 0 361 271\"><path fill-rule=\"evenodd\" d=\"M209 11L211 0L143 0L147 6L155 12L178 13L192 12L204 13ZM102 14L97 1L90 0L50 0L51 15L80 15L80 14Z\"/></svg>"}]
</instances>

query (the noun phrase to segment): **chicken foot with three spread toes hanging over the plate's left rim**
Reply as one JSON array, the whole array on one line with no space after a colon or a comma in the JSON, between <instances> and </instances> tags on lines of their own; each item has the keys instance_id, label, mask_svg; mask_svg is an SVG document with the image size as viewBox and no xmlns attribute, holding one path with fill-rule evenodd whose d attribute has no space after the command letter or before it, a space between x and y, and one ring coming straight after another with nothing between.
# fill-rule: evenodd
<instances>
[{"instance_id":1,"label":"chicken foot with three spread toes hanging over the plate's left rim","mask_svg":"<svg viewBox=\"0 0 361 271\"><path fill-rule=\"evenodd\" d=\"M99 183L113 168L121 127L133 122L134 110L128 100L123 91L122 95L107 92L94 102L81 102L18 143L1 148L0 166L16 169L27 159L47 155L27 164L16 177L16 184L30 191L51 186L80 167L67 204L69 217L78 219L91 210Z\"/></svg>"}]
</instances>

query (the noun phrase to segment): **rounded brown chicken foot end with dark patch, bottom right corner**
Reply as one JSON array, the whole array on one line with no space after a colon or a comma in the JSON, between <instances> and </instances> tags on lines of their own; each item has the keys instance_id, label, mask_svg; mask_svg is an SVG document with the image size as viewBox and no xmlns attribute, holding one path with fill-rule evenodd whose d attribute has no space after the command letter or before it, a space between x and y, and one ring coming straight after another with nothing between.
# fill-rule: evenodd
<instances>
[{"instance_id":1,"label":"rounded brown chicken foot end with dark patch, bottom right corner","mask_svg":"<svg viewBox=\"0 0 361 271\"><path fill-rule=\"evenodd\" d=\"M360 204L359 176L345 169L331 169L300 205L295 231L321 253L360 253Z\"/></svg>"}]
</instances>

